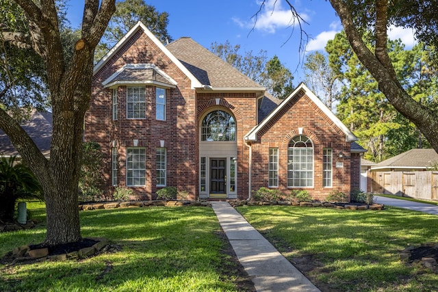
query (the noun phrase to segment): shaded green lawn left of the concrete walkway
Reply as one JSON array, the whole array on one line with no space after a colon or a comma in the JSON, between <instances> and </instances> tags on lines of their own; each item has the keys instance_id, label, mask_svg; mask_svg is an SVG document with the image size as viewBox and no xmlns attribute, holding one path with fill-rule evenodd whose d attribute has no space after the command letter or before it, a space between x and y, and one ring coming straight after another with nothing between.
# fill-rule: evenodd
<instances>
[{"instance_id":1,"label":"shaded green lawn left of the concrete walkway","mask_svg":"<svg viewBox=\"0 0 438 292\"><path fill-rule=\"evenodd\" d=\"M42 204L28 207L44 219ZM122 250L81 261L0 265L0 291L236 291L235 279L222 273L225 242L210 208L95 210L80 216L83 237L106 237ZM44 236L44 223L0 233L0 256Z\"/></svg>"}]
</instances>

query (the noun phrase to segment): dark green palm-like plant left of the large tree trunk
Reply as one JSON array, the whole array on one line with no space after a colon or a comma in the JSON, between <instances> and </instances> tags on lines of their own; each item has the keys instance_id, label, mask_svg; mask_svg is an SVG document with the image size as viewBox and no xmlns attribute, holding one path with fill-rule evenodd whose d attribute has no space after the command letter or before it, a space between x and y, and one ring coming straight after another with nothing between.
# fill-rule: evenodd
<instances>
[{"instance_id":1,"label":"dark green palm-like plant left of the large tree trunk","mask_svg":"<svg viewBox=\"0 0 438 292\"><path fill-rule=\"evenodd\" d=\"M16 157L0 159L0 222L14 220L15 203L19 199L43 200L40 183Z\"/></svg>"}]
</instances>

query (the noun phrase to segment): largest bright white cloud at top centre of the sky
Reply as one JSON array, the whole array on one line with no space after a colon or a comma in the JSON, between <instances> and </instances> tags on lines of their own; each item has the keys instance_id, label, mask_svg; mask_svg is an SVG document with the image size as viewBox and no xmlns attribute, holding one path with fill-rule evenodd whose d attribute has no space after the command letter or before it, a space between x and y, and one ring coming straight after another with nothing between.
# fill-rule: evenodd
<instances>
[{"instance_id":1,"label":"largest bright white cloud at top centre of the sky","mask_svg":"<svg viewBox=\"0 0 438 292\"><path fill-rule=\"evenodd\" d=\"M257 5L261 5L261 2L257 1ZM305 21L309 20L309 16L305 13L300 13L300 16ZM269 34L274 34L276 29L298 24L296 20L294 21L289 7L283 8L282 1L275 0L266 0L261 11L251 21L242 21L239 18L233 18L233 21L240 25L240 27L254 27L254 29L265 31Z\"/></svg>"}]
</instances>

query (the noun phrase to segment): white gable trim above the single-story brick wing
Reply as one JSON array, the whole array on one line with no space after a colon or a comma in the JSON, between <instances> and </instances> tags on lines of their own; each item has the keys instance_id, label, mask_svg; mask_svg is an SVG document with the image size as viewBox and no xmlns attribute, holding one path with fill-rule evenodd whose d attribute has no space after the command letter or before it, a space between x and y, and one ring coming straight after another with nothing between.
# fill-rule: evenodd
<instances>
[{"instance_id":1,"label":"white gable trim above the single-story brick wing","mask_svg":"<svg viewBox=\"0 0 438 292\"><path fill-rule=\"evenodd\" d=\"M326 116L328 116L331 121L337 126L339 127L339 129L341 129L341 131L346 135L346 142L354 142L357 141L357 137L341 122L341 120L339 120L339 118L337 118L335 116L335 114L333 114L333 112L326 107L326 105L324 105L324 103L322 103L322 101L320 100L320 98L318 98L317 96L315 96L315 94L313 94L313 92L311 92L311 90L309 90L309 88L307 88L307 86L304 83L300 83L297 88L295 88L294 92L292 92L289 96L287 96L287 98L285 98L283 100L282 103L280 103L280 105L278 107L276 107L270 114L269 116L267 116L263 121L261 121L256 127L254 127L251 131L249 131L245 136L244 139L246 141L256 141L257 140L257 133L259 133L259 131L261 129L263 129L263 127L266 126L266 124L268 124L268 122L274 118L274 116L281 111L281 109L283 109L283 107L285 107L285 105L287 105L287 103L289 103L289 101L291 101L292 98L294 98L296 96L296 94L298 94L298 92L300 92L300 90L303 90L305 92L305 94L307 96L309 96L309 98L311 99L311 101L313 101L313 103L315 103L315 105L317 105L322 112L324 112L324 114L326 114Z\"/></svg>"}]
</instances>

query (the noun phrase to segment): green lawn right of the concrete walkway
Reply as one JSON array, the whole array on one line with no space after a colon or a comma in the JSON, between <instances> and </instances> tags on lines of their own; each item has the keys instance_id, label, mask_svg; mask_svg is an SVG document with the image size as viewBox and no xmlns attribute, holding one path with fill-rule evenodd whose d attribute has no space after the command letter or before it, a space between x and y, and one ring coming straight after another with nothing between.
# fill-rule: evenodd
<instances>
[{"instance_id":1,"label":"green lawn right of the concrete walkway","mask_svg":"<svg viewBox=\"0 0 438 292\"><path fill-rule=\"evenodd\" d=\"M400 261L409 245L438 242L438 217L387 207L350 211L290 206L238 207L242 215L322 291L437 291L438 275Z\"/></svg>"}]
</instances>

